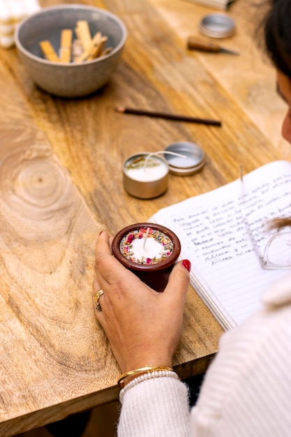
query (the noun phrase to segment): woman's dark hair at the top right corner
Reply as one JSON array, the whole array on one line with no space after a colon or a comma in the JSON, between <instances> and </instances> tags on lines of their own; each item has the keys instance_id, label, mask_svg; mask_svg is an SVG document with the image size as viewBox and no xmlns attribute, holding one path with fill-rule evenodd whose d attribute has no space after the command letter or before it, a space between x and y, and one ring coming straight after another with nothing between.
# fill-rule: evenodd
<instances>
[{"instance_id":1,"label":"woman's dark hair at the top right corner","mask_svg":"<svg viewBox=\"0 0 291 437\"><path fill-rule=\"evenodd\" d=\"M269 0L262 32L272 64L291 78L291 0Z\"/></svg>"}]
</instances>

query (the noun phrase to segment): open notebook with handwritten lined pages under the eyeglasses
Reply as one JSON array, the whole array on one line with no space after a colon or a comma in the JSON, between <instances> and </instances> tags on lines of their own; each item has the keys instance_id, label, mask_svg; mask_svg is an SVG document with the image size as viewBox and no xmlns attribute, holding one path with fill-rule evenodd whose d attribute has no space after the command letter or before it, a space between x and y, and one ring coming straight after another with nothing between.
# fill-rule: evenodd
<instances>
[{"instance_id":1,"label":"open notebook with handwritten lined pages under the eyeglasses","mask_svg":"<svg viewBox=\"0 0 291 437\"><path fill-rule=\"evenodd\" d=\"M244 176L244 214L263 252L271 235L267 221L291 217L291 163L275 161ZM239 325L259 309L262 292L291 273L291 269L262 269L244 214L241 180L237 179L160 209L149 218L177 234L180 258L191 260L193 288L225 329Z\"/></svg>"}]
</instances>

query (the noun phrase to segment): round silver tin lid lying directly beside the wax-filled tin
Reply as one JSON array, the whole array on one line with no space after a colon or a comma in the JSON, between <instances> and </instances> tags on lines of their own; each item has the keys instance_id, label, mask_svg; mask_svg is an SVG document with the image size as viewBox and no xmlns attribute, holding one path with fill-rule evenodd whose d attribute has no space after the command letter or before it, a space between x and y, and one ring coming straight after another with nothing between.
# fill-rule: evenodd
<instances>
[{"instance_id":1,"label":"round silver tin lid lying directly beside the wax-filled tin","mask_svg":"<svg viewBox=\"0 0 291 437\"><path fill-rule=\"evenodd\" d=\"M204 151L193 142L179 141L174 142L165 148L184 157L172 154L164 154L169 170L173 175L190 176L202 170L205 163Z\"/></svg>"}]
</instances>

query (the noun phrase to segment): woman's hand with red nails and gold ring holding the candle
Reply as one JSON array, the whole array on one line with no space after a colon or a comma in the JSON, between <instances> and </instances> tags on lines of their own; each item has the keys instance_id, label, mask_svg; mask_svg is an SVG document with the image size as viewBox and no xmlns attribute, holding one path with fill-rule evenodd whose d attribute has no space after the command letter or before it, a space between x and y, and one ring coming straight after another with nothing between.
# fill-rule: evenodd
<instances>
[{"instance_id":1,"label":"woman's hand with red nails and gold ring holding the candle","mask_svg":"<svg viewBox=\"0 0 291 437\"><path fill-rule=\"evenodd\" d=\"M110 341L121 372L172 366L183 323L190 262L177 263L164 292L156 292L121 265L102 232L96 244L94 295L100 289L102 311L96 318Z\"/></svg>"}]
</instances>

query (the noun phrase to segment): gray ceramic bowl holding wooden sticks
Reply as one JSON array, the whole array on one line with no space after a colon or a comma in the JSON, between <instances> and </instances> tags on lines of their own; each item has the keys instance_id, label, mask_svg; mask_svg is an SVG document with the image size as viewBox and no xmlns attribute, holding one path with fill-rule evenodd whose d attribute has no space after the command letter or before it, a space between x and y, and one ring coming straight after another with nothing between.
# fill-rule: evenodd
<instances>
[{"instance_id":1,"label":"gray ceramic bowl holding wooden sticks","mask_svg":"<svg viewBox=\"0 0 291 437\"><path fill-rule=\"evenodd\" d=\"M62 29L73 29L77 20L87 20L93 37L96 31L107 36L109 54L82 63L47 61L39 47L41 40L50 40L59 51ZM81 97L105 85L117 66L126 42L124 23L103 9L84 5L62 5L43 8L23 20L15 31L20 58L33 81L45 91L61 97Z\"/></svg>"}]
</instances>

